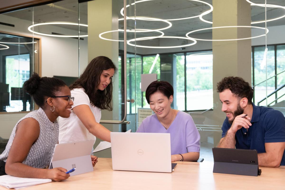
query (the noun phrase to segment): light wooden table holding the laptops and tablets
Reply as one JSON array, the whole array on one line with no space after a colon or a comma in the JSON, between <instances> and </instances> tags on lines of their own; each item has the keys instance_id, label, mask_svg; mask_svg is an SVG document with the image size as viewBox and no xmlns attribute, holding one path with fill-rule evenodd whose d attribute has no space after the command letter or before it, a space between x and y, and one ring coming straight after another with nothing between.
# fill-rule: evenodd
<instances>
[{"instance_id":1,"label":"light wooden table holding the laptops and tablets","mask_svg":"<svg viewBox=\"0 0 285 190\"><path fill-rule=\"evenodd\" d=\"M111 158L98 158L93 172L31 189L285 189L285 166L260 167L260 176L213 173L211 162L175 162L172 173L114 171ZM0 187L0 190L6 189Z\"/></svg>"}]
</instances>

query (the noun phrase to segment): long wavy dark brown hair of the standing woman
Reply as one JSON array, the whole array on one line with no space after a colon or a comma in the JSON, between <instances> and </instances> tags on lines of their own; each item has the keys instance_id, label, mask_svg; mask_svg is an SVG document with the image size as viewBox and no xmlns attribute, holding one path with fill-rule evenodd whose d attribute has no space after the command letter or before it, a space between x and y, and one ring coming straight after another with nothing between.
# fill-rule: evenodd
<instances>
[{"instance_id":1,"label":"long wavy dark brown hair of the standing woman","mask_svg":"<svg viewBox=\"0 0 285 190\"><path fill-rule=\"evenodd\" d=\"M113 81L102 91L95 90L100 84L100 76L103 70L113 68L115 73L117 67L109 58L105 56L98 56L94 58L85 68L82 75L72 85L70 90L75 88L83 88L90 99L90 103L99 109L113 110Z\"/></svg>"}]
</instances>

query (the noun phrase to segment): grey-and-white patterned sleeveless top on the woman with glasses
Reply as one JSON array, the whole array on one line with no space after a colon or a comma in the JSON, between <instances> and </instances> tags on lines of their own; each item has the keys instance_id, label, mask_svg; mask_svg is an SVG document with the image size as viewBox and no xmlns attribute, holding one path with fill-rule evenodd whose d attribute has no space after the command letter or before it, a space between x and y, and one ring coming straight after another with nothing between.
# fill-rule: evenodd
<instances>
[{"instance_id":1,"label":"grey-and-white patterned sleeveless top on the woman with glasses","mask_svg":"<svg viewBox=\"0 0 285 190\"><path fill-rule=\"evenodd\" d=\"M55 120L54 123L51 122L46 116L46 113L44 113L41 108L28 113L25 117L23 117L17 122L17 124L13 128L6 149L0 155L0 160L6 162L11 145L15 138L17 125L20 121L29 117L34 118L38 121L40 125L40 135L36 142L31 146L27 157L22 163L31 167L45 168L49 166L54 146L58 143L58 122L57 120Z\"/></svg>"}]
</instances>

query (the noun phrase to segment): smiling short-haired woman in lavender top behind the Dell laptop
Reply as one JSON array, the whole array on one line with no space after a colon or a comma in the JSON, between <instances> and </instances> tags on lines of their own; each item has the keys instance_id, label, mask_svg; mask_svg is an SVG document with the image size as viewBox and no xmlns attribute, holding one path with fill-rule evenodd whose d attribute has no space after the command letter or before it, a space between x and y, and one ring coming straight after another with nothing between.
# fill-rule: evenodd
<instances>
[{"instance_id":1,"label":"smiling short-haired woman in lavender top behind the Dell laptop","mask_svg":"<svg viewBox=\"0 0 285 190\"><path fill-rule=\"evenodd\" d=\"M166 81L154 81L146 89L146 101L153 115L146 117L137 132L170 133L171 162L197 161L200 134L192 117L171 108L173 87Z\"/></svg>"}]
</instances>

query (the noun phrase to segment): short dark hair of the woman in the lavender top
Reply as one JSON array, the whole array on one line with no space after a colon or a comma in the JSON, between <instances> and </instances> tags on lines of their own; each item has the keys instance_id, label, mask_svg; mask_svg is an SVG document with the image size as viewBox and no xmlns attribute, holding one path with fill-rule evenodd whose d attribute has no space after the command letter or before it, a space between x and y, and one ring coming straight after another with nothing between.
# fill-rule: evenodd
<instances>
[{"instance_id":1,"label":"short dark hair of the woman in the lavender top","mask_svg":"<svg viewBox=\"0 0 285 190\"><path fill-rule=\"evenodd\" d=\"M153 81L152 83L150 83L150 85L148 85L145 91L145 98L148 104L150 95L156 92L161 92L168 99L171 95L173 96L174 94L173 87L169 82L159 80Z\"/></svg>"}]
</instances>

